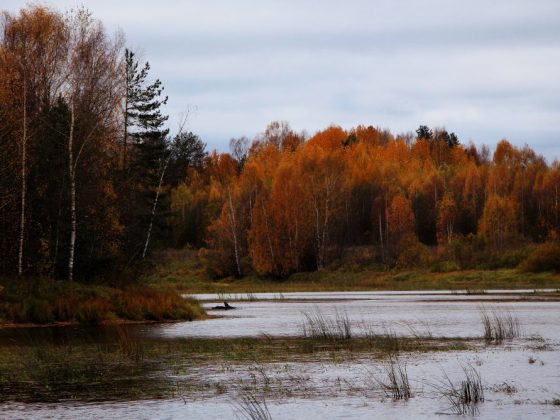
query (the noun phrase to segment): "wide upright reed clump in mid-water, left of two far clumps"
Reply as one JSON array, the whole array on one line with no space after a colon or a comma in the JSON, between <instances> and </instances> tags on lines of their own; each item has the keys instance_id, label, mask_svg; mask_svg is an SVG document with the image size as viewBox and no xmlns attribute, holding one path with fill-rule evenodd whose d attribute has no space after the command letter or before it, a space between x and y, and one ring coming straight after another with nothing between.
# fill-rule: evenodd
<instances>
[{"instance_id":1,"label":"wide upright reed clump in mid-water, left of two far clumps","mask_svg":"<svg viewBox=\"0 0 560 420\"><path fill-rule=\"evenodd\" d=\"M324 341L341 341L352 338L352 327L348 314L335 311L334 318L325 316L319 309L304 312L302 332L305 338Z\"/></svg>"}]
</instances>

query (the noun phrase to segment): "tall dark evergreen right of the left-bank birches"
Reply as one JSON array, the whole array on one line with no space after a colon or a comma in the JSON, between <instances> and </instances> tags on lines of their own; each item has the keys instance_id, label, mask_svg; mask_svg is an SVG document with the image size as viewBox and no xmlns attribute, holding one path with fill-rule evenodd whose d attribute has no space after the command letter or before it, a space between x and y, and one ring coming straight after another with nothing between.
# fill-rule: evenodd
<instances>
[{"instance_id":1,"label":"tall dark evergreen right of the left-bank birches","mask_svg":"<svg viewBox=\"0 0 560 420\"><path fill-rule=\"evenodd\" d=\"M125 51L121 203L129 260L144 254L147 235L157 239L158 233L166 229L161 216L168 214L169 207L162 188L171 154L169 130L164 127L168 116L161 110L167 97L162 97L159 79L148 84L149 71L149 63L140 68L134 53Z\"/></svg>"}]
</instances>

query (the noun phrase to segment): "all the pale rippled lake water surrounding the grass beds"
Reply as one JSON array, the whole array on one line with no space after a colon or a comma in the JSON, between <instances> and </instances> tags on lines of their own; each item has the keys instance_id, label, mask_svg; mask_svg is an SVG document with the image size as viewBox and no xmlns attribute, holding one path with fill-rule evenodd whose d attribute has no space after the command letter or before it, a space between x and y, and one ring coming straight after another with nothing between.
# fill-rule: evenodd
<instances>
[{"instance_id":1,"label":"all the pale rippled lake water surrounding the grass beds","mask_svg":"<svg viewBox=\"0 0 560 420\"><path fill-rule=\"evenodd\" d=\"M207 307L218 296L200 295ZM237 397L244 387L267 390L272 418L433 418L450 414L449 404L433 388L447 374L461 378L470 365L481 373L486 401L480 418L560 418L560 302L515 301L520 295L498 291L484 295L450 292L391 293L297 293L256 294L257 301L233 302L237 309L211 311L217 319L176 324L134 325L131 334L161 340L176 337L258 337L301 334L304 313L321 311L325 316L346 314L356 333L367 325L374 331L390 329L399 335L430 332L433 336L480 337L480 307L499 308L520 321L524 338L475 350L410 353L402 358L414 397L394 402L382 392L374 378L383 377L383 360L363 354L350 359L325 357L312 362L301 359L283 363L233 363L202 361L182 375L205 381L200 392L173 398L85 403L0 405L2 418L194 418L241 417ZM245 296L246 297L246 296ZM221 297L220 297L221 298ZM19 334L19 337L18 337ZM102 329L63 328L59 340L82 334L91 339L111 340L112 327ZM41 338L43 336L43 338ZM47 329L2 331L0 341L12 342L52 337ZM97 337L97 338L96 338ZM52 339L52 338L51 338ZM532 361L532 362L530 362ZM505 385L510 386L505 387ZM221 388L223 387L223 388ZM506 392L505 389L515 389ZM452 416L454 417L454 416Z\"/></svg>"}]
</instances>

